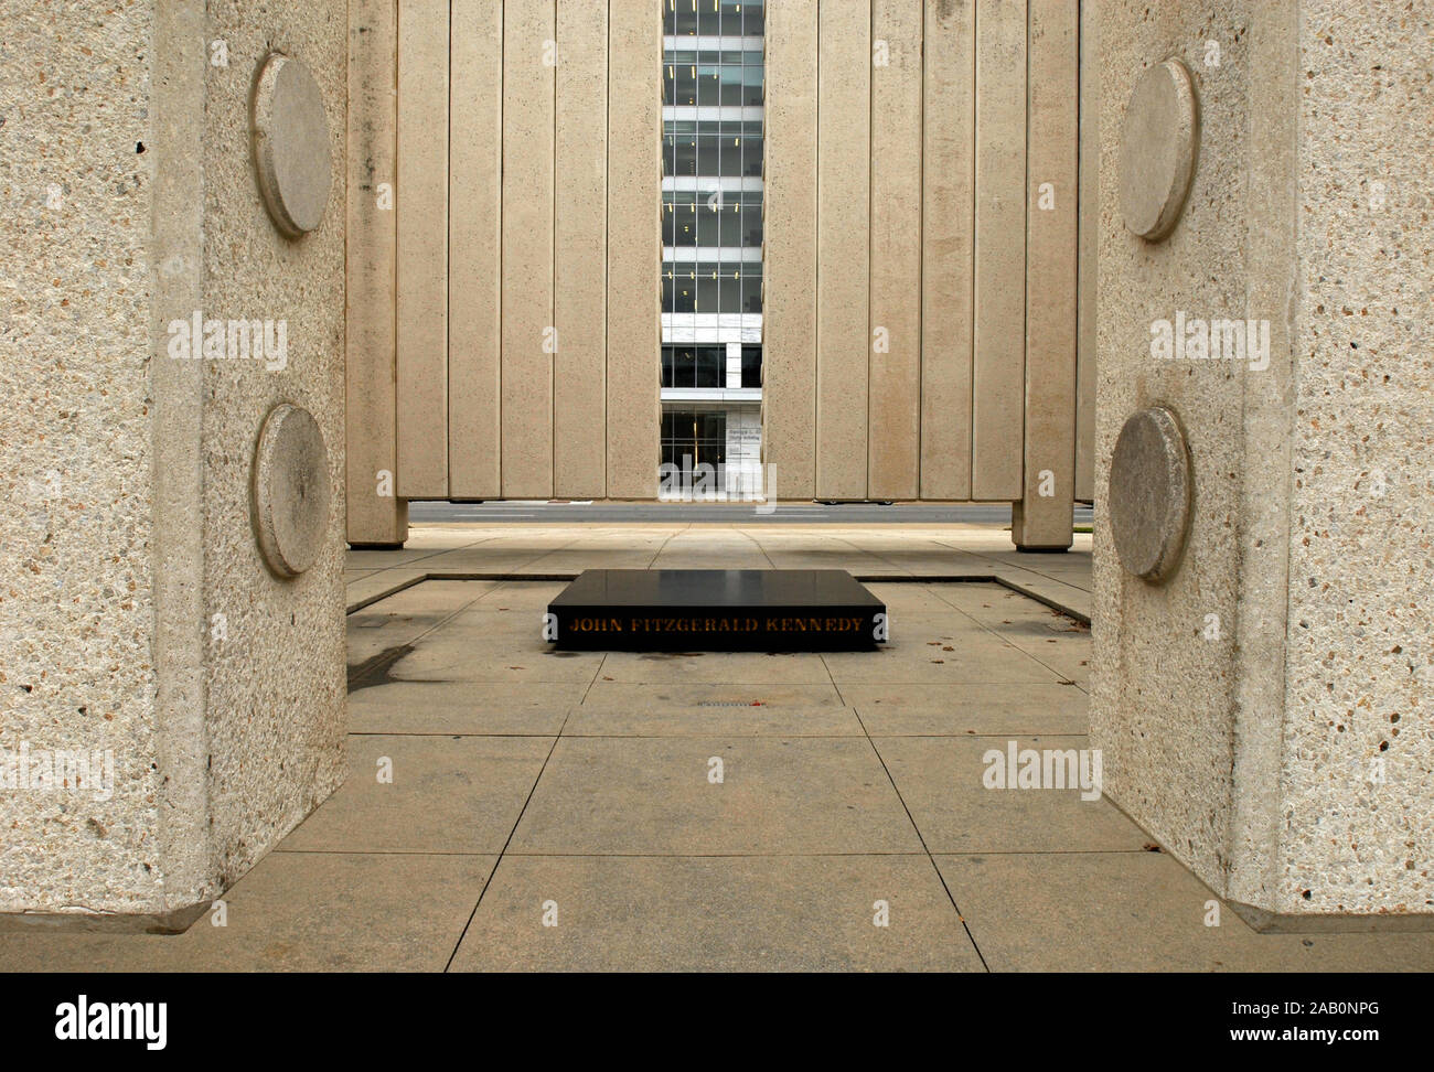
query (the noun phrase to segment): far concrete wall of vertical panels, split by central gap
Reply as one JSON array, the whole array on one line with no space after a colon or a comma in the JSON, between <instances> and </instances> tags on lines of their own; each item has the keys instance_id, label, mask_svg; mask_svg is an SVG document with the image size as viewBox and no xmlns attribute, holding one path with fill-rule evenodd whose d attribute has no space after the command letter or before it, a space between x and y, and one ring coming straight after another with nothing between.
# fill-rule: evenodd
<instances>
[{"instance_id":1,"label":"far concrete wall of vertical panels, split by central gap","mask_svg":"<svg viewBox=\"0 0 1434 1072\"><path fill-rule=\"evenodd\" d=\"M350 542L402 543L407 499L657 499L661 4L353 20ZM1011 502L1070 546L1078 60L1071 0L767 6L779 499Z\"/></svg>"}]
</instances>

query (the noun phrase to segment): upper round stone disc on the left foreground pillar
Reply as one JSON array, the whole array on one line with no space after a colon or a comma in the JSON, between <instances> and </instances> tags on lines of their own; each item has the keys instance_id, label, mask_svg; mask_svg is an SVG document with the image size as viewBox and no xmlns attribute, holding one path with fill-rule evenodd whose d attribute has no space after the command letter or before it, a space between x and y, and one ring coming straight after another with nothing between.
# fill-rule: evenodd
<instances>
[{"instance_id":1,"label":"upper round stone disc on the left foreground pillar","mask_svg":"<svg viewBox=\"0 0 1434 1072\"><path fill-rule=\"evenodd\" d=\"M318 83L298 60L271 53L254 85L254 171L274 224L297 238L328 204L328 115Z\"/></svg>"}]
</instances>

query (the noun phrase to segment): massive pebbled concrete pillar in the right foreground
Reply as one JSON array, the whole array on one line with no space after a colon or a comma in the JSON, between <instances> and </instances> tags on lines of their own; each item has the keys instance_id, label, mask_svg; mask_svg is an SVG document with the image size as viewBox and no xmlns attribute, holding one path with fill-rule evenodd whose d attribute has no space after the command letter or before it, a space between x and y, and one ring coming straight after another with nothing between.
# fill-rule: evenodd
<instances>
[{"instance_id":1,"label":"massive pebbled concrete pillar in the right foreground","mask_svg":"<svg viewBox=\"0 0 1434 1072\"><path fill-rule=\"evenodd\" d=\"M1434 480L1411 460L1434 443L1434 14L1107 0L1098 19L1106 793L1255 926L1430 926ZM1169 57L1187 75L1150 73ZM1131 102L1149 122L1123 130ZM1117 447L1152 407L1173 417ZM1160 579L1137 576L1153 549Z\"/></svg>"}]
</instances>

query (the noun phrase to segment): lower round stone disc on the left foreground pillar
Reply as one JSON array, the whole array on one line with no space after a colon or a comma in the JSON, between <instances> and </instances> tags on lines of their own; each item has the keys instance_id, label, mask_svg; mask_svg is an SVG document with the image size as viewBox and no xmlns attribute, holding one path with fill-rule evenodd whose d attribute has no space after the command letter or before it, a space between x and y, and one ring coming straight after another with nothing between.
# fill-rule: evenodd
<instances>
[{"instance_id":1,"label":"lower round stone disc on the left foreground pillar","mask_svg":"<svg viewBox=\"0 0 1434 1072\"><path fill-rule=\"evenodd\" d=\"M328 530L328 450L308 410L280 403L254 453L254 530L281 578L314 565Z\"/></svg>"}]
</instances>

